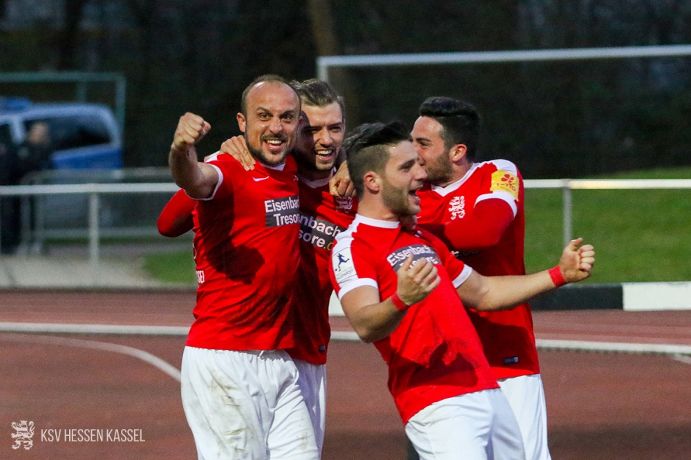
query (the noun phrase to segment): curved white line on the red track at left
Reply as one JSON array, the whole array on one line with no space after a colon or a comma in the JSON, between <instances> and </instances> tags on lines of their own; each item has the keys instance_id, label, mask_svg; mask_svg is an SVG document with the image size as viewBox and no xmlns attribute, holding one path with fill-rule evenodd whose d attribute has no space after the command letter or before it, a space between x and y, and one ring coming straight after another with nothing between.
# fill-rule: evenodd
<instances>
[{"instance_id":1,"label":"curved white line on the red track at left","mask_svg":"<svg viewBox=\"0 0 691 460\"><path fill-rule=\"evenodd\" d=\"M96 341L83 341L77 338L34 336L27 334L0 334L0 340L22 343L48 343L50 345L64 345L68 347L91 348L100 349L105 352L122 353L141 359L142 361L157 367L169 376L175 378L176 381L180 381L180 370L178 370L177 367L167 363L166 361L163 361L158 356L154 356L149 352L144 352L142 349L126 347L125 345Z\"/></svg>"}]
</instances>

